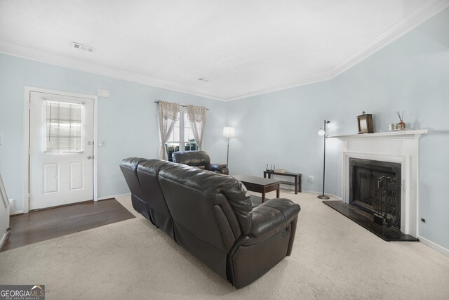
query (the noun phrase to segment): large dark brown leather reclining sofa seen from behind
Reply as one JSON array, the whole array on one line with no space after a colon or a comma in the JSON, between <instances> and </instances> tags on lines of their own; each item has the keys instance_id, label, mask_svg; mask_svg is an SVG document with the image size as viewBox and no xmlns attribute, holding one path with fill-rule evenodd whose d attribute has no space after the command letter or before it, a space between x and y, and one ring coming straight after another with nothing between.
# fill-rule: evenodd
<instances>
[{"instance_id":1,"label":"large dark brown leather reclining sofa seen from behind","mask_svg":"<svg viewBox=\"0 0 449 300\"><path fill-rule=\"evenodd\" d=\"M120 167L134 209L237 289L290 256L299 204L253 208L240 181L184 164L128 158Z\"/></svg>"}]
</instances>

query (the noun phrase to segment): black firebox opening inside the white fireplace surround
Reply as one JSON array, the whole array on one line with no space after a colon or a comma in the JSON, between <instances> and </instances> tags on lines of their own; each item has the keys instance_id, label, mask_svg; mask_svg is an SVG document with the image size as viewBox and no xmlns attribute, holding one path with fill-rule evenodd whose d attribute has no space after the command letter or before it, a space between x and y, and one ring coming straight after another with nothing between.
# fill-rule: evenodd
<instances>
[{"instance_id":1,"label":"black firebox opening inside the white fireplace surround","mask_svg":"<svg viewBox=\"0 0 449 300\"><path fill-rule=\"evenodd\" d=\"M349 204L400 230L401 164L353 157L349 166Z\"/></svg>"}]
</instances>

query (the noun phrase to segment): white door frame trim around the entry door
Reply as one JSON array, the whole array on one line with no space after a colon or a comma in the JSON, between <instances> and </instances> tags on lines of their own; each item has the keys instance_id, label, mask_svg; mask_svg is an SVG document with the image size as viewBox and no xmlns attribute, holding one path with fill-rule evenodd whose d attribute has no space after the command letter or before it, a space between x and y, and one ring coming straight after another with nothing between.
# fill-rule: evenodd
<instances>
[{"instance_id":1,"label":"white door frame trim around the entry door","mask_svg":"<svg viewBox=\"0 0 449 300\"><path fill-rule=\"evenodd\" d=\"M98 97L81 93L70 93L51 89L41 89L25 86L25 97L23 105L23 212L29 212L29 97L32 91L40 93L54 93L69 97L81 97L93 99L93 201L98 201L97 188L97 162L98 162Z\"/></svg>"}]
</instances>

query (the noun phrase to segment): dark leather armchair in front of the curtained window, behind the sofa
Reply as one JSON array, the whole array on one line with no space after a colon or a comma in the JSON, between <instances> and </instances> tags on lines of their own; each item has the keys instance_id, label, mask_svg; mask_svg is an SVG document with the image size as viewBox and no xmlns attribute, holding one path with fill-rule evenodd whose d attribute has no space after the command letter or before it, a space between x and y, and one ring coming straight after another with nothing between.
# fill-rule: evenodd
<instances>
[{"instance_id":1,"label":"dark leather armchair in front of the curtained window, behind the sofa","mask_svg":"<svg viewBox=\"0 0 449 300\"><path fill-rule=\"evenodd\" d=\"M171 157L173 162L178 164L187 164L219 174L229 174L226 164L210 164L210 157L206 151L177 151L173 152Z\"/></svg>"}]
</instances>

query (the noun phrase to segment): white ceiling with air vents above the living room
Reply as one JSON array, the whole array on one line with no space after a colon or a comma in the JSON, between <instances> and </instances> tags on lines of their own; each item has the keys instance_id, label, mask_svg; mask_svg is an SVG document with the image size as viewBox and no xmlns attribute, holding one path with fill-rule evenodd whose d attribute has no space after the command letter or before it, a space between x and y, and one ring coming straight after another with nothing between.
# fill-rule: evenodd
<instances>
[{"instance_id":1,"label":"white ceiling with air vents above the living room","mask_svg":"<svg viewBox=\"0 0 449 300\"><path fill-rule=\"evenodd\" d=\"M0 0L0 51L234 100L335 77L448 6L448 0ZM75 49L73 41L95 51Z\"/></svg>"}]
</instances>

